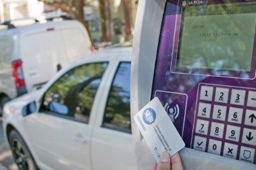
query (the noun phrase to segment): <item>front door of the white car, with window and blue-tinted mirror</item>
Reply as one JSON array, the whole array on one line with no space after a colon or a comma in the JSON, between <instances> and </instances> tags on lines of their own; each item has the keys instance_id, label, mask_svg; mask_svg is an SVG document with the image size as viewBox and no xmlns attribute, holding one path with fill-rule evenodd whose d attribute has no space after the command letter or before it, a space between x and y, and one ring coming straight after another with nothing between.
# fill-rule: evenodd
<instances>
[{"instance_id":1,"label":"front door of the white car, with window and blue-tinted mirror","mask_svg":"<svg viewBox=\"0 0 256 170\"><path fill-rule=\"evenodd\" d=\"M45 92L38 114L27 121L33 150L47 169L92 169L90 137L91 113L100 98L97 89L108 63L75 67L62 75Z\"/></svg>"}]
</instances>

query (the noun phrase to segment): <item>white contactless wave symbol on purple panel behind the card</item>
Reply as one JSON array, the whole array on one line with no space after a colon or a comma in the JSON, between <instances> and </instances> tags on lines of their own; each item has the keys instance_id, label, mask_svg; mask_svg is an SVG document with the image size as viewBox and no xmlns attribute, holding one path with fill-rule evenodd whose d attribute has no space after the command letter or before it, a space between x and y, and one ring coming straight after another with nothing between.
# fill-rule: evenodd
<instances>
[{"instance_id":1,"label":"white contactless wave symbol on purple panel behind the card","mask_svg":"<svg viewBox=\"0 0 256 170\"><path fill-rule=\"evenodd\" d=\"M164 109L167 111L167 114L173 123L175 119L179 117L180 113L184 112L178 99L175 99L171 104L166 103Z\"/></svg>"}]
</instances>

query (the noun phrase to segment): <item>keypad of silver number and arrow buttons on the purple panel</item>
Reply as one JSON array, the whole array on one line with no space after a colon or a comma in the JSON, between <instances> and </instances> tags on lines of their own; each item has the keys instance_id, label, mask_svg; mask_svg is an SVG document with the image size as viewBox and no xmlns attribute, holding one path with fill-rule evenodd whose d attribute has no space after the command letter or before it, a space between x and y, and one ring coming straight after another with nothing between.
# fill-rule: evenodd
<instances>
[{"instance_id":1,"label":"keypad of silver number and arrow buttons on the purple panel","mask_svg":"<svg viewBox=\"0 0 256 170\"><path fill-rule=\"evenodd\" d=\"M193 149L256 164L256 89L199 84Z\"/></svg>"}]
</instances>

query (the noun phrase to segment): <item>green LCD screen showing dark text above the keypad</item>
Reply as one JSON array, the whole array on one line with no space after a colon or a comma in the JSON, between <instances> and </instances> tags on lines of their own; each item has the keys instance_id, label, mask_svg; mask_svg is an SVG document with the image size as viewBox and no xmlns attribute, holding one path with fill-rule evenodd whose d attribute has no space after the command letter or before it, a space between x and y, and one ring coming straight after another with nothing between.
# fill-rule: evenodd
<instances>
[{"instance_id":1,"label":"green LCD screen showing dark text above the keypad","mask_svg":"<svg viewBox=\"0 0 256 170\"><path fill-rule=\"evenodd\" d=\"M251 71L256 3L182 10L178 68Z\"/></svg>"}]
</instances>

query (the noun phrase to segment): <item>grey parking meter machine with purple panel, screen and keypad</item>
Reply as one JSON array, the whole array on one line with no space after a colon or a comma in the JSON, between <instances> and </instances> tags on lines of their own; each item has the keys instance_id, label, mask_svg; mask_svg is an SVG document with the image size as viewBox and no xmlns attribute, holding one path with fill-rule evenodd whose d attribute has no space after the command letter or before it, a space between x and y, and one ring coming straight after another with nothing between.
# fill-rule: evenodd
<instances>
[{"instance_id":1,"label":"grey parking meter machine with purple panel, screen and keypad","mask_svg":"<svg viewBox=\"0 0 256 170\"><path fill-rule=\"evenodd\" d=\"M158 97L185 169L256 169L256 1L139 0L132 117ZM155 162L132 121L138 169Z\"/></svg>"}]
</instances>

